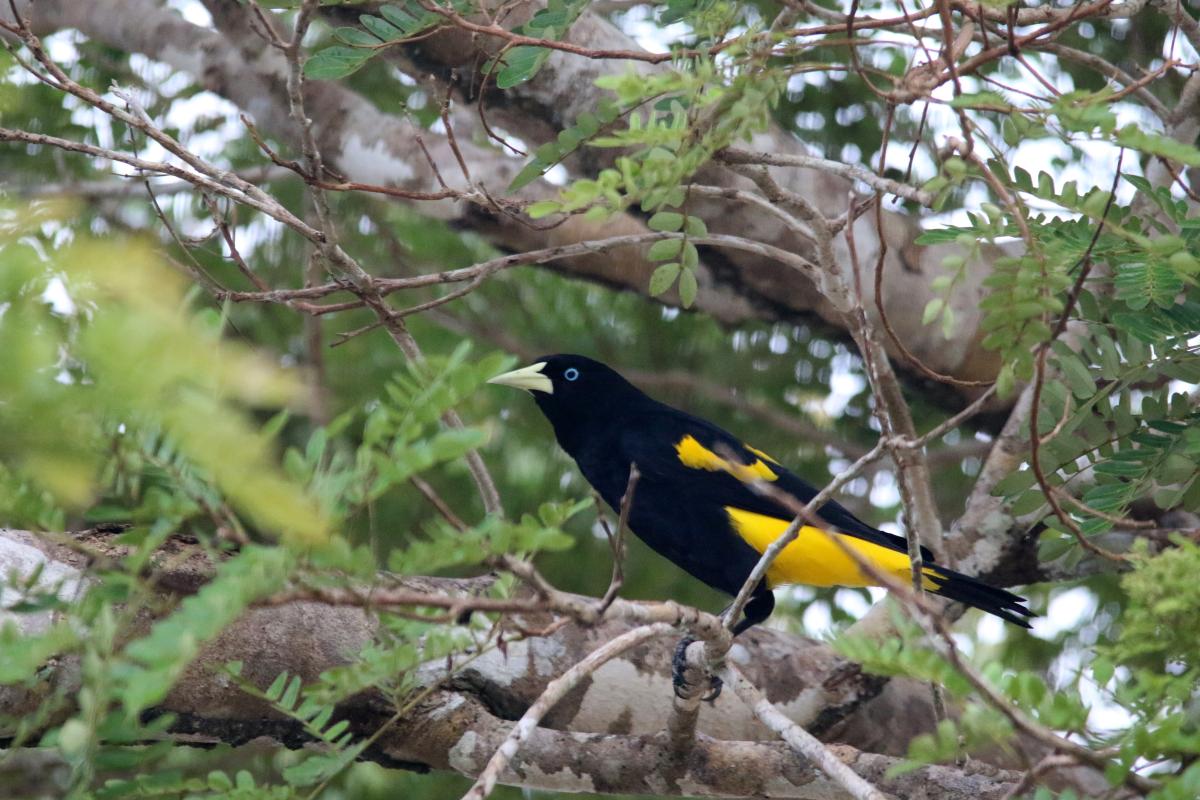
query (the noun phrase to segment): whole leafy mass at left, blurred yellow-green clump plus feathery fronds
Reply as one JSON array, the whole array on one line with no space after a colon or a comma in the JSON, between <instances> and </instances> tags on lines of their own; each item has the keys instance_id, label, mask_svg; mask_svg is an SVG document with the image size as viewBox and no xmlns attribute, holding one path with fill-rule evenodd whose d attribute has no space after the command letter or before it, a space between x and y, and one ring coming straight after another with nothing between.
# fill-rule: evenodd
<instances>
[{"instance_id":1,"label":"whole leafy mass at left, blurred yellow-green clump plus feathery fronds","mask_svg":"<svg viewBox=\"0 0 1200 800\"><path fill-rule=\"evenodd\" d=\"M472 360L463 343L445 357L410 363L368 411L350 409L313 427L305 446L288 447L276 467L271 439L288 426L290 413L259 426L234 401L294 403L298 380L264 355L223 341L224 320L190 311L178 278L148 249L83 239L60 248L48 239L35 246L59 229L56 217L35 224L12 213L8 223L4 254L14 269L5 273L0 317L11 411L0 452L6 522L59 531L66 515L85 507L89 519L134 527L113 540L116 549L96 557L86 584L42 571L0 584L6 615L53 612L59 618L38 633L22 633L6 618L0 682L47 688L46 664L62 660L80 664L82 681L77 694L50 692L38 714L0 726L18 746L56 747L71 768L71 789L90 787L98 798L283 798L324 787L383 732L355 736L348 723L332 721L336 703L379 690L398 714L418 696L421 664L494 646L493 628L484 620L474 628L445 628L384 615L376 640L355 662L323 675L302 696L298 678L281 675L260 696L325 746L284 769L282 784L246 771L199 777L166 770L169 742L132 745L161 738L172 716L145 712L163 700L203 645L256 601L296 583L379 579L370 548L325 531L480 446L481 431L443 429L439 419L510 367L511 357ZM44 299L55 281L68 288L74 309ZM589 505L546 504L536 517L515 523L487 517L466 531L430 522L420 540L391 552L389 579L461 569L493 554L563 548L571 540L560 527ZM178 533L198 535L215 569L199 591L174 608L160 608L156 553ZM245 541L270 533L298 547ZM242 543L232 548L230 540ZM509 585L497 582L494 591L503 595ZM72 594L78 599L70 601ZM149 630L142 621L146 614L158 618ZM236 674L230 666L230 675ZM251 684L245 688L259 692ZM102 778L130 771L145 776Z\"/></svg>"}]
</instances>

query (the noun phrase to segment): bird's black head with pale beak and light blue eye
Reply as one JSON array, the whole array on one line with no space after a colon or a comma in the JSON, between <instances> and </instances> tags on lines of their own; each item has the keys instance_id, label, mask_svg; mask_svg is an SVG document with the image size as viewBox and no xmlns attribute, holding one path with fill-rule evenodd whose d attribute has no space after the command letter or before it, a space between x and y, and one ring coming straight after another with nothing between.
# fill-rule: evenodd
<instances>
[{"instance_id":1,"label":"bird's black head with pale beak and light blue eye","mask_svg":"<svg viewBox=\"0 0 1200 800\"><path fill-rule=\"evenodd\" d=\"M646 399L614 369L582 355L542 356L487 383L528 390L559 434L583 422L619 415L630 403Z\"/></svg>"}]
</instances>

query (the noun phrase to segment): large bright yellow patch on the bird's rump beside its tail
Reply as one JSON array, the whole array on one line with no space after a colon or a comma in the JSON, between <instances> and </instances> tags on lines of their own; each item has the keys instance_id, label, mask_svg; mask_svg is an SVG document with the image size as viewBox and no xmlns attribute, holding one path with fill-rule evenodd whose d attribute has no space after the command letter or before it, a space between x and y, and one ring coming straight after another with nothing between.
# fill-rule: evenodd
<instances>
[{"instance_id":1,"label":"large bright yellow patch on the bird's rump beside its tail","mask_svg":"<svg viewBox=\"0 0 1200 800\"><path fill-rule=\"evenodd\" d=\"M767 515L725 506L733 529L750 547L762 553L773 541L782 536L788 521ZM834 541L834 540L838 541ZM875 545L854 536L830 534L804 525L799 536L784 548L784 552L767 570L767 584L778 587L787 583L803 583L810 587L874 587L878 585L870 576L863 573L858 563L842 549L841 545L858 553L881 572L905 578L910 572L908 555L882 545ZM936 577L930 570L925 573ZM926 589L936 589L937 584L924 579Z\"/></svg>"}]
</instances>

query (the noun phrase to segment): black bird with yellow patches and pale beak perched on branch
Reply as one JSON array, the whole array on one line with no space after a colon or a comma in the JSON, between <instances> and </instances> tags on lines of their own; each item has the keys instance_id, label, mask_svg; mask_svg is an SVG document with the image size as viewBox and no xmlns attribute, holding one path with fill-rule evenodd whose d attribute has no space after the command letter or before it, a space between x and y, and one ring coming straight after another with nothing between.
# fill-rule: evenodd
<instances>
[{"instance_id":1,"label":"black bird with yellow patches and pale beak perched on branch","mask_svg":"<svg viewBox=\"0 0 1200 800\"><path fill-rule=\"evenodd\" d=\"M698 416L661 403L611 367L582 355L556 354L505 372L491 384L528 390L550 421L559 446L600 497L619 510L636 465L628 509L629 530L659 555L702 583L736 596L763 551L791 524L790 510L817 494L776 459ZM764 491L766 489L766 491ZM782 500L790 495L791 504ZM880 585L874 571L911 581L902 536L878 530L829 500L816 511L824 525L803 524L754 588L738 636L766 621L781 585ZM920 548L922 582L930 594L1031 627L1026 600L936 564ZM676 691L682 688L683 650L676 651ZM720 691L714 682L714 690Z\"/></svg>"}]
</instances>

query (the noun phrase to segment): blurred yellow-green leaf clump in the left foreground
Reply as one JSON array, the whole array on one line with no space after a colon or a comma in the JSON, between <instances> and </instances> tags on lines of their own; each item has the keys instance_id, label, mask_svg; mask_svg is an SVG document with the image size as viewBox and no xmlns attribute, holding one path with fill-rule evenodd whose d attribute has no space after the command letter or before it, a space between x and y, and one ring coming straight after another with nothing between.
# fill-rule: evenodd
<instances>
[{"instance_id":1,"label":"blurred yellow-green leaf clump in the left foreground","mask_svg":"<svg viewBox=\"0 0 1200 800\"><path fill-rule=\"evenodd\" d=\"M12 482L0 497L16 504L40 486L68 509L86 506L97 488L102 443L122 435L122 426L140 426L168 432L180 453L264 533L322 540L322 515L271 464L266 440L234 404L293 402L294 375L220 342L212 319L181 307L182 281L144 245L79 237L47 258L44 245L64 231L58 216L5 216L0 459ZM72 313L44 300L52 284L71 293ZM43 511L11 522L36 524L37 517L53 518Z\"/></svg>"}]
</instances>

